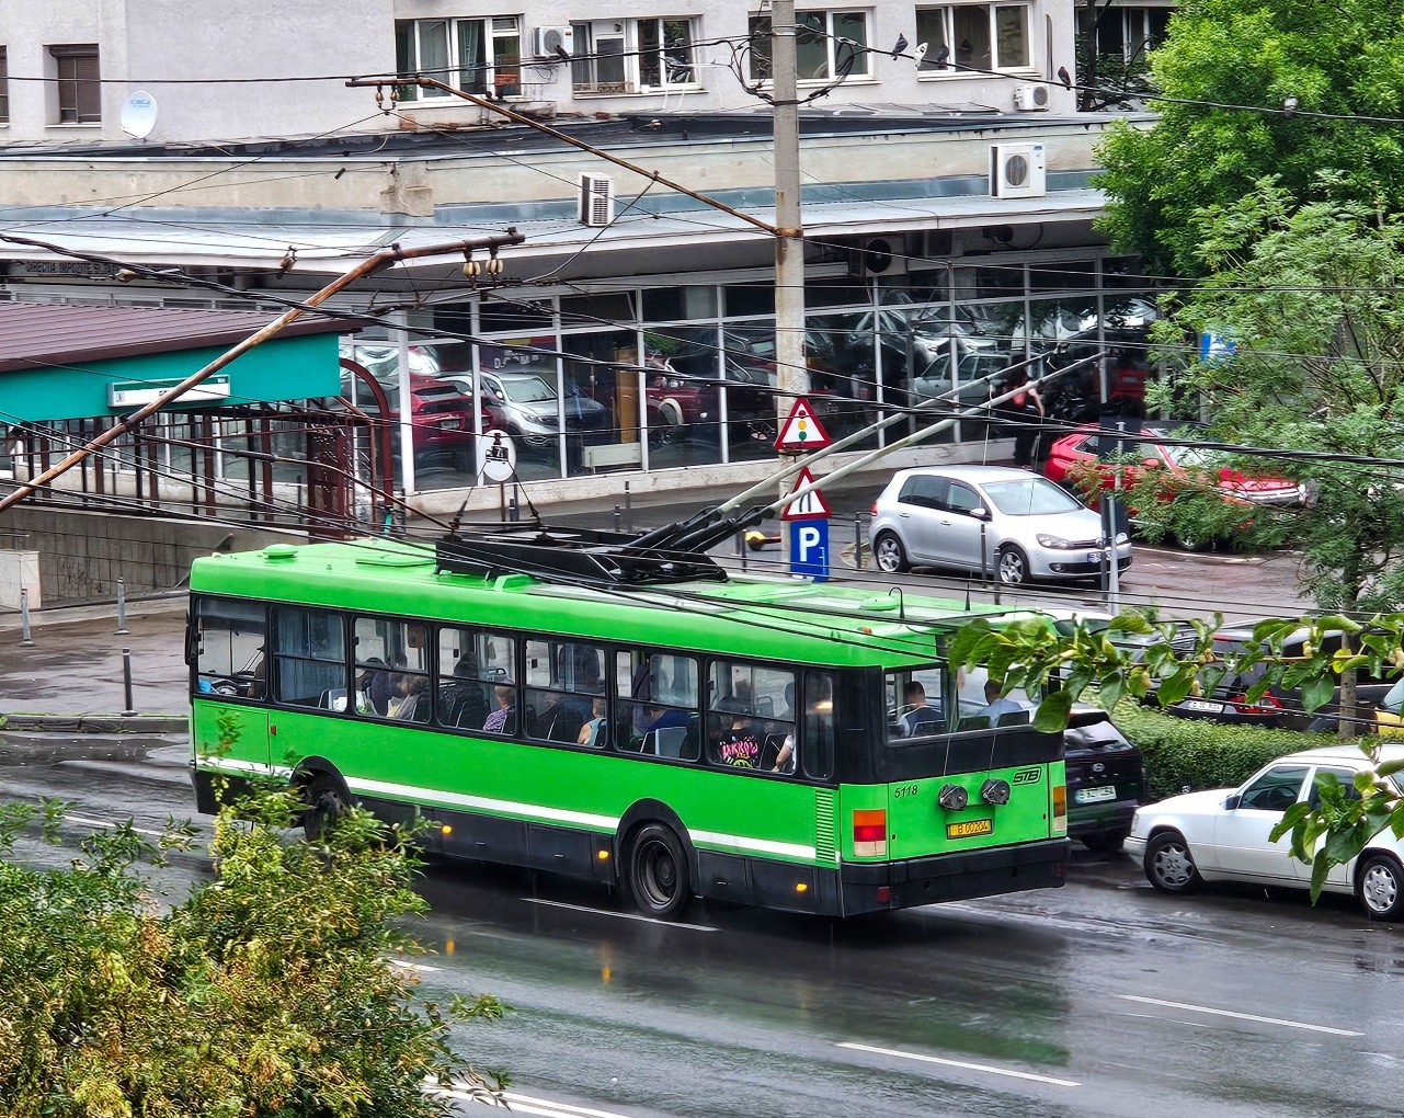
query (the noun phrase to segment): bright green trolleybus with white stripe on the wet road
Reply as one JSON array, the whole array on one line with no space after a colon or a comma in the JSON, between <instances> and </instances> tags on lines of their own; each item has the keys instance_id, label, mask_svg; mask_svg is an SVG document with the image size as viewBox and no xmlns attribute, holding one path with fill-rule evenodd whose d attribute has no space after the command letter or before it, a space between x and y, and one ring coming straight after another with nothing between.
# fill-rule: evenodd
<instances>
[{"instance_id":1,"label":"bright green trolleybus with white stripe on the wet road","mask_svg":"<svg viewBox=\"0 0 1404 1118\"><path fill-rule=\"evenodd\" d=\"M962 713L958 603L543 530L277 544L190 584L202 812L288 781L309 833L348 803L423 816L430 854L618 885L656 917L1063 883L1061 735Z\"/></svg>"}]
</instances>

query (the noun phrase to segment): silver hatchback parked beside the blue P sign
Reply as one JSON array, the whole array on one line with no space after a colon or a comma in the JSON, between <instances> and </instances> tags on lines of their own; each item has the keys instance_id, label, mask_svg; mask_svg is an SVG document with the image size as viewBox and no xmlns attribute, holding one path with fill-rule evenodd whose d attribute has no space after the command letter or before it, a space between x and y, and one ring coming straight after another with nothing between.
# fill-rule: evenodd
<instances>
[{"instance_id":1,"label":"silver hatchback parked beside the blue P sign","mask_svg":"<svg viewBox=\"0 0 1404 1118\"><path fill-rule=\"evenodd\" d=\"M1097 579L1106 567L1102 518L1046 478L1008 466L920 466L893 476L873 504L868 539L889 574L911 566L1032 579ZM1116 535L1116 565L1132 545Z\"/></svg>"}]
</instances>

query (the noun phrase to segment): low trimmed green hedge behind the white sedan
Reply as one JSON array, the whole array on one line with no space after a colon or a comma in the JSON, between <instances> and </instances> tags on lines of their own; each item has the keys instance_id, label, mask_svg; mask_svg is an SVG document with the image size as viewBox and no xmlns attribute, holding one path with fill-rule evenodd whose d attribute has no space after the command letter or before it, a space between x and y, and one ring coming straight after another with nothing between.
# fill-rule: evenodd
<instances>
[{"instance_id":1,"label":"low trimmed green hedge behind the white sedan","mask_svg":"<svg viewBox=\"0 0 1404 1118\"><path fill-rule=\"evenodd\" d=\"M1118 702L1112 721L1140 747L1146 764L1146 803L1186 791L1237 788L1268 761L1286 753L1341 744L1334 733L1174 718L1134 699Z\"/></svg>"}]
</instances>

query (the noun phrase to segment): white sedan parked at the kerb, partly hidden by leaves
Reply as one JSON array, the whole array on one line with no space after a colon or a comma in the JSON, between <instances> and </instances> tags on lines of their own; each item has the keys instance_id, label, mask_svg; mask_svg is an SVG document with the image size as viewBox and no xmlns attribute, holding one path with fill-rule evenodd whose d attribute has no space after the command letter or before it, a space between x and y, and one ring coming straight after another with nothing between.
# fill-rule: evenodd
<instances>
[{"instance_id":1,"label":"white sedan parked at the kerb, partly hidden by leaves","mask_svg":"<svg viewBox=\"0 0 1404 1118\"><path fill-rule=\"evenodd\" d=\"M1404 744L1380 749L1382 763L1394 760L1404 760ZM1293 803L1317 801L1324 774L1359 795L1355 774L1366 768L1355 746L1279 757L1241 788L1188 792L1137 809L1126 853L1163 893L1188 893L1206 881L1307 889L1311 867L1292 857L1287 836L1278 843L1268 836ZM1404 919L1404 840L1386 827L1356 858L1331 868L1325 892L1355 893L1372 920Z\"/></svg>"}]
</instances>

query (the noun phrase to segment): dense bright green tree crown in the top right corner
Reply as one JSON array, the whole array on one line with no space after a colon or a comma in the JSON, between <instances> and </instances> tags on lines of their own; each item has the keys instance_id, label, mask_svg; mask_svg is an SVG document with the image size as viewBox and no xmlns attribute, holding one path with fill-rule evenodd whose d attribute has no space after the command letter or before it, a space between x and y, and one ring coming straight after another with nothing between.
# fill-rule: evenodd
<instances>
[{"instance_id":1,"label":"dense bright green tree crown in the top right corner","mask_svg":"<svg viewBox=\"0 0 1404 1118\"><path fill-rule=\"evenodd\" d=\"M1404 115L1393 6L1185 0L1150 74L1158 119L1113 125L1097 180L1101 229L1150 271L1200 275L1200 208L1231 206L1265 176L1299 202L1404 208L1404 131L1360 119Z\"/></svg>"}]
</instances>

